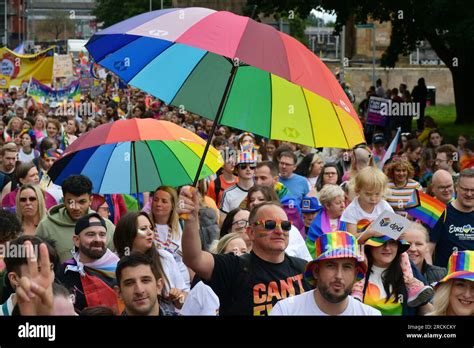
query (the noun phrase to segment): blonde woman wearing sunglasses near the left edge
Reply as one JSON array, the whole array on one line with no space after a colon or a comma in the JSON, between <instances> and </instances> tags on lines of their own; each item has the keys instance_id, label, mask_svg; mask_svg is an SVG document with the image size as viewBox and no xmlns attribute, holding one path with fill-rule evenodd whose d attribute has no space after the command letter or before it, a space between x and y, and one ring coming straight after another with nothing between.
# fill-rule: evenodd
<instances>
[{"instance_id":1,"label":"blonde woman wearing sunglasses near the left edge","mask_svg":"<svg viewBox=\"0 0 474 348\"><path fill-rule=\"evenodd\" d=\"M40 187L33 184L21 186L16 195L16 216L21 222L23 233L34 236L36 227L45 215L46 203Z\"/></svg>"}]
</instances>

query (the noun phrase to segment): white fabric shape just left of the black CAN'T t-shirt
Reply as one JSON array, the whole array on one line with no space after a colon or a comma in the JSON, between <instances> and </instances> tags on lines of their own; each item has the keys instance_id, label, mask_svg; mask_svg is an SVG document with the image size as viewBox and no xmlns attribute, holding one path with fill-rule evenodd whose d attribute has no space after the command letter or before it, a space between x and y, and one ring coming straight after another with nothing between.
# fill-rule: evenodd
<instances>
[{"instance_id":1,"label":"white fabric shape just left of the black CAN'T t-shirt","mask_svg":"<svg viewBox=\"0 0 474 348\"><path fill-rule=\"evenodd\" d=\"M194 285L189 292L186 301L184 301L183 308L181 308L181 315L218 315L219 314L219 297L211 289L210 286L204 284L202 281Z\"/></svg>"}]
</instances>

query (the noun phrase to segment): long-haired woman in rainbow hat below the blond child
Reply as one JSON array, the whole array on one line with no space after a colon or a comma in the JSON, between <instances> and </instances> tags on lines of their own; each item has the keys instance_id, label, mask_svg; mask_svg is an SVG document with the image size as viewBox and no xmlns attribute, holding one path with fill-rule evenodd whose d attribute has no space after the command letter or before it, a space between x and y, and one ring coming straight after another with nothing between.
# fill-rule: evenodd
<instances>
[{"instance_id":1,"label":"long-haired woman in rainbow hat below the blond child","mask_svg":"<svg viewBox=\"0 0 474 348\"><path fill-rule=\"evenodd\" d=\"M425 281L420 272L410 264L413 277L407 278L407 271L402 268L404 263L401 255L410 245L404 240L394 240L372 230L367 230L359 237L364 244L367 258L367 274L365 279L356 283L353 296L382 312L382 315L415 315L426 314L432 310L428 301L433 290L425 286L417 291L416 298L408 288L412 284L418 288L419 281ZM362 284L361 284L362 283ZM362 287L362 289L359 288Z\"/></svg>"}]
</instances>

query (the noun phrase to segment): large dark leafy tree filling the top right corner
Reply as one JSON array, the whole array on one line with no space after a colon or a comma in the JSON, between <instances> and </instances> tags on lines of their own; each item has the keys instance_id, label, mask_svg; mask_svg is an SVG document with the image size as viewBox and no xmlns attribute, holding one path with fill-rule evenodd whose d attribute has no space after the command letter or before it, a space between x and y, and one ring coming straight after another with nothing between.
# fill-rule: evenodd
<instances>
[{"instance_id":1,"label":"large dark leafy tree filling the top right corner","mask_svg":"<svg viewBox=\"0 0 474 348\"><path fill-rule=\"evenodd\" d=\"M414 51L421 40L428 40L453 77L456 123L473 122L474 111L474 6L468 0L248 0L248 7L273 13L298 11L303 17L322 9L337 15L336 30L350 16L355 23L369 18L392 24L390 45L381 64L394 67L400 54Z\"/></svg>"}]
</instances>

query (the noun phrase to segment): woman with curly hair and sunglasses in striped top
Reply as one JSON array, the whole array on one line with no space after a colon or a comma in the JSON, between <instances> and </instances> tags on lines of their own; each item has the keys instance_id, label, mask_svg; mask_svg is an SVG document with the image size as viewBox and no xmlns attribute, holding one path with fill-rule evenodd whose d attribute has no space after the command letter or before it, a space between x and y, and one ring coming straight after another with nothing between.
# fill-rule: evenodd
<instances>
[{"instance_id":1,"label":"woman with curly hair and sunglasses in striped top","mask_svg":"<svg viewBox=\"0 0 474 348\"><path fill-rule=\"evenodd\" d=\"M411 179L414 175L412 165L404 159L396 158L385 167L385 175L389 179L387 203L397 214L406 216L405 209L414 190L423 189L420 183Z\"/></svg>"}]
</instances>

